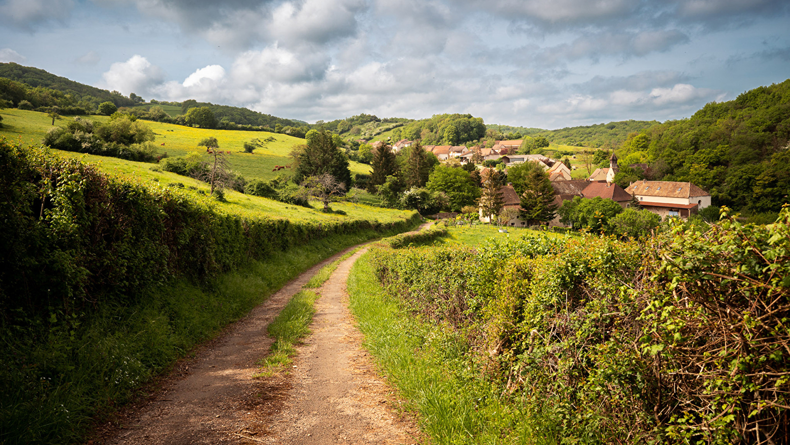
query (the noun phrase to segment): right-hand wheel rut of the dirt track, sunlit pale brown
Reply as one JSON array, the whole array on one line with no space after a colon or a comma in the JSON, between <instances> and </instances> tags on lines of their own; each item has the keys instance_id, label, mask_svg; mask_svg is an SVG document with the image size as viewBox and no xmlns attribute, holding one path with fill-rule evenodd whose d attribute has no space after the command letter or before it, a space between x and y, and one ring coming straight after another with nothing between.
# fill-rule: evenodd
<instances>
[{"instance_id":1,"label":"right-hand wheel rut of the dirt track, sunlit pale brown","mask_svg":"<svg viewBox=\"0 0 790 445\"><path fill-rule=\"evenodd\" d=\"M348 311L348 271L367 248L341 262L321 288L313 330L294 361L292 388L274 413L266 443L416 443L416 426L397 417L391 389L372 371ZM387 402L390 402L389 404Z\"/></svg>"}]
</instances>

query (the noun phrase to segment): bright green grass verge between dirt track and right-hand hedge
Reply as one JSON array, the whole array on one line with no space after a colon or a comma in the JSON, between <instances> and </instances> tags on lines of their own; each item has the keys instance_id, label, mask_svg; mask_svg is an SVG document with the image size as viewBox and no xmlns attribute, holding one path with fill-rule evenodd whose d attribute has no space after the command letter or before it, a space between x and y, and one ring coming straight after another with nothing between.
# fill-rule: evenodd
<instances>
[{"instance_id":1,"label":"bright green grass verge between dirt track and right-hand hedge","mask_svg":"<svg viewBox=\"0 0 790 445\"><path fill-rule=\"evenodd\" d=\"M529 429L532 413L482 379L465 358L468 344L445 326L422 322L389 299L363 255L348 277L348 294L364 346L383 375L419 413L436 444L551 443Z\"/></svg>"}]
</instances>

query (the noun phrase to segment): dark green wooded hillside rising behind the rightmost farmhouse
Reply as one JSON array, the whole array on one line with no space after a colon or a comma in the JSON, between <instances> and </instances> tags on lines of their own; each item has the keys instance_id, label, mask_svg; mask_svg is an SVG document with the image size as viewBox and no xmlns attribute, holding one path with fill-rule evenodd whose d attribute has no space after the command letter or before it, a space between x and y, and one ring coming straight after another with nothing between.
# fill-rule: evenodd
<instances>
[{"instance_id":1,"label":"dark green wooded hillside rising behind the rightmost farmhouse","mask_svg":"<svg viewBox=\"0 0 790 445\"><path fill-rule=\"evenodd\" d=\"M689 181L714 206L778 212L790 190L790 80L710 103L689 119L632 134L621 167L649 163L650 179Z\"/></svg>"}]
</instances>

